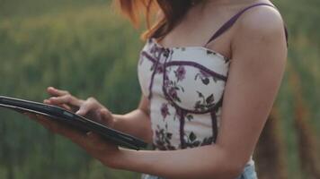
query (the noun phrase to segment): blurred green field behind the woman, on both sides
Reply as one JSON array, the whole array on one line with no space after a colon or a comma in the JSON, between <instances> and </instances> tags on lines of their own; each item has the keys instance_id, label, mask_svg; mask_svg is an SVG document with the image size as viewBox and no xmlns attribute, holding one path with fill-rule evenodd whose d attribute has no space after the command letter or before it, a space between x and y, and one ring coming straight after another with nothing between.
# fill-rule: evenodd
<instances>
[{"instance_id":1,"label":"blurred green field behind the woman, on both sides","mask_svg":"<svg viewBox=\"0 0 320 179\"><path fill-rule=\"evenodd\" d=\"M280 94L256 149L260 178L320 178L320 2L279 0L289 29ZM0 95L42 101L55 86L113 113L138 105L143 46L108 0L0 0ZM22 115L0 109L0 179L124 179Z\"/></svg>"}]
</instances>

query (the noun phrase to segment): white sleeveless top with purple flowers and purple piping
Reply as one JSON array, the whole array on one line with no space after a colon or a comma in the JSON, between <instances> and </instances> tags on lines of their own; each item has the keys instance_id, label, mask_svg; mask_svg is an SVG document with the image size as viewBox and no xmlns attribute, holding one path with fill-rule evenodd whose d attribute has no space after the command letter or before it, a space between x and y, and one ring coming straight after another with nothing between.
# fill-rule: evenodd
<instances>
[{"instance_id":1,"label":"white sleeveless top with purple flowers and purple piping","mask_svg":"<svg viewBox=\"0 0 320 179\"><path fill-rule=\"evenodd\" d=\"M147 40L138 81L150 100L155 149L215 143L229 64L227 57L206 47L165 48L155 38Z\"/></svg>"}]
</instances>

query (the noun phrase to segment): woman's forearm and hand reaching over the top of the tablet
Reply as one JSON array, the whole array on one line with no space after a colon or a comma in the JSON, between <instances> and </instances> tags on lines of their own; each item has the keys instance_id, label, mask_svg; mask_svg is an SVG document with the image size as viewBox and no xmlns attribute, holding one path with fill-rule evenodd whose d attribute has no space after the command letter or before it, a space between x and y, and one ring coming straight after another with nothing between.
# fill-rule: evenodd
<instances>
[{"instance_id":1,"label":"woman's forearm and hand reaching over the top of the tablet","mask_svg":"<svg viewBox=\"0 0 320 179\"><path fill-rule=\"evenodd\" d=\"M45 99L44 103L64 107L77 115L88 117L98 123L111 128L129 133L146 142L152 142L152 129L149 117L149 101L142 95L138 108L125 115L112 114L103 107L95 98L82 100L72 96L66 90L48 88L51 98Z\"/></svg>"}]
</instances>

